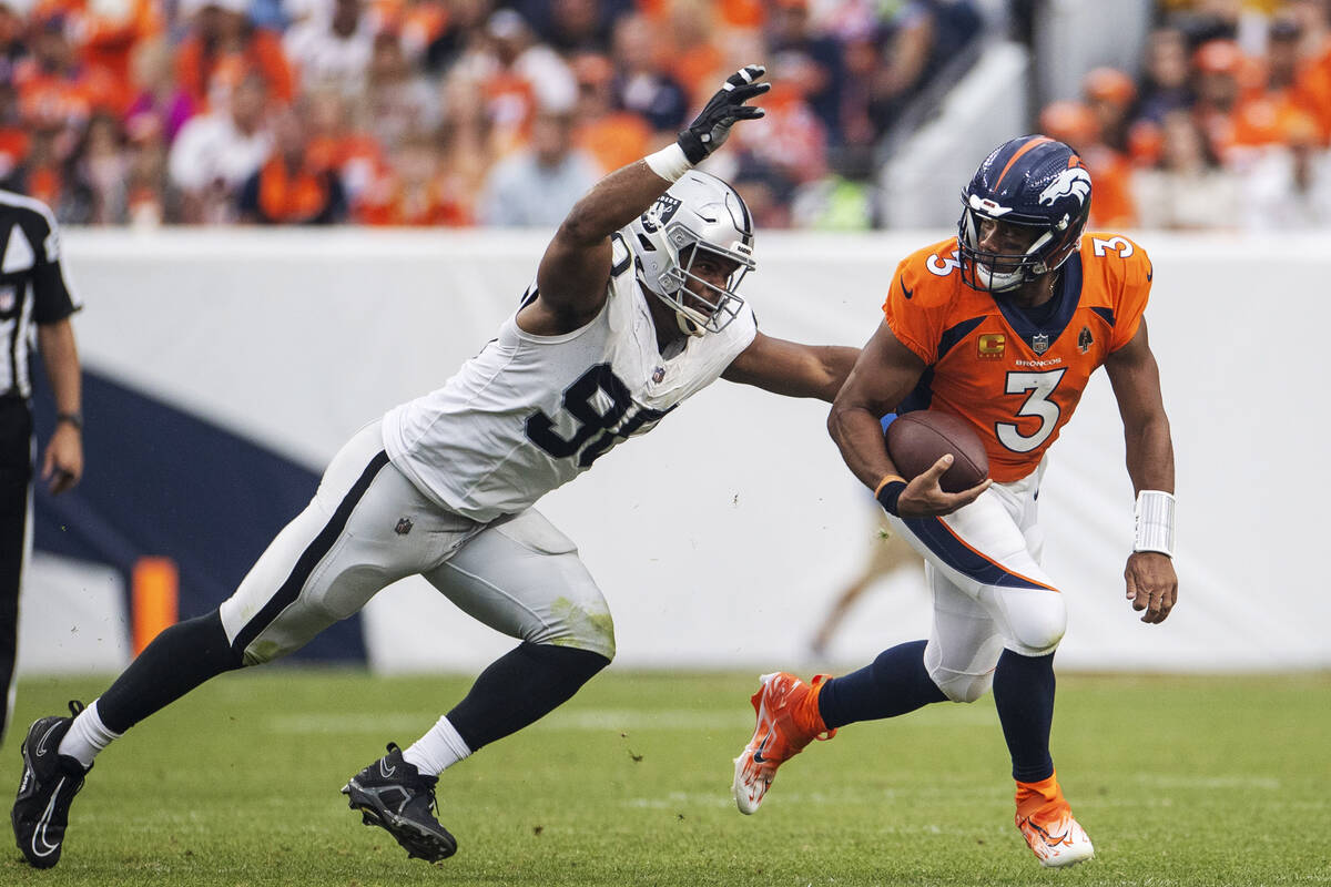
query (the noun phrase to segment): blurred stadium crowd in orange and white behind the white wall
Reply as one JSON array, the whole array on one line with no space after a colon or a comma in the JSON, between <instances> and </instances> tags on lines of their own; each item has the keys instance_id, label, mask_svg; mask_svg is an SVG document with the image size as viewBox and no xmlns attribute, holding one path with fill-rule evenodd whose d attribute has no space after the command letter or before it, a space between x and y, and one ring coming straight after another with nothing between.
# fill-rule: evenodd
<instances>
[{"instance_id":1,"label":"blurred stadium crowd in orange and white behind the white wall","mask_svg":"<svg viewBox=\"0 0 1331 887\"><path fill-rule=\"evenodd\" d=\"M893 128L994 39L984 5L0 0L0 186L65 223L554 225L763 60L767 124L711 169L760 226L872 227ZM1093 223L1331 223L1331 0L1155 17L1141 70L1040 113L1095 176Z\"/></svg>"}]
</instances>

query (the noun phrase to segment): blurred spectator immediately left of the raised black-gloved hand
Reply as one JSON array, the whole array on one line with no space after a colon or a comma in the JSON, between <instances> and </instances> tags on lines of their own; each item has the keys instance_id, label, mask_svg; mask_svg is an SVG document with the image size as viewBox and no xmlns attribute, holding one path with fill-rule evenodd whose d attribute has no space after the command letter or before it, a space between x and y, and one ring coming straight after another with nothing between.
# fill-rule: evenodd
<instances>
[{"instance_id":1,"label":"blurred spectator immediately left of the raised black-gloved hand","mask_svg":"<svg viewBox=\"0 0 1331 887\"><path fill-rule=\"evenodd\" d=\"M668 69L664 35L643 15L615 25L615 101L640 114L654 132L673 134L684 125L688 96Z\"/></svg>"}]
</instances>

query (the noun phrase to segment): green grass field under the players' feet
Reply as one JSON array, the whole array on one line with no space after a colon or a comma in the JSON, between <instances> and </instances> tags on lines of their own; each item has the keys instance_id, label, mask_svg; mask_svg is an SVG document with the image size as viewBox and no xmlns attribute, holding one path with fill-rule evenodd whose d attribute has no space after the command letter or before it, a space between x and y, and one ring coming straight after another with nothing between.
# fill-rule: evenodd
<instances>
[{"instance_id":1,"label":"green grass field under the players' feet","mask_svg":"<svg viewBox=\"0 0 1331 887\"><path fill-rule=\"evenodd\" d=\"M28 681L8 794L41 714L105 681ZM3 884L1327 884L1331 676L1059 680L1054 758L1097 858L1045 871L1013 827L993 703L853 725L729 798L755 676L611 669L443 774L438 866L365 828L338 787L461 698L462 678L230 674L108 750L51 871Z\"/></svg>"}]
</instances>

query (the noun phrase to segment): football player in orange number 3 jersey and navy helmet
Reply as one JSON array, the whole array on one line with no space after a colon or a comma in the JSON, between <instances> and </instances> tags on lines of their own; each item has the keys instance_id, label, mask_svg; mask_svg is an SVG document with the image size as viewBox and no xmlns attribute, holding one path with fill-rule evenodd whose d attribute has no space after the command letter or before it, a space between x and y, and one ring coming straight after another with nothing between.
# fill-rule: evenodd
<instances>
[{"instance_id":1,"label":"football player in orange number 3 jersey and navy helmet","mask_svg":"<svg viewBox=\"0 0 1331 887\"><path fill-rule=\"evenodd\" d=\"M1151 265L1125 237L1083 234L1090 174L1067 145L1026 136L996 149L962 191L958 235L909 255L828 419L851 471L894 532L926 560L928 641L812 684L784 672L753 694L757 729L735 762L735 799L753 813L777 766L811 739L929 702L973 702L990 689L1017 781L1017 827L1044 866L1093 855L1049 754L1061 585L1040 567L1036 496L1044 453L1095 367L1109 372L1137 491L1125 576L1143 622L1163 622L1178 578L1174 452L1142 311ZM946 493L952 461L910 479L888 456L878 418L929 407L972 422L990 480Z\"/></svg>"}]
</instances>

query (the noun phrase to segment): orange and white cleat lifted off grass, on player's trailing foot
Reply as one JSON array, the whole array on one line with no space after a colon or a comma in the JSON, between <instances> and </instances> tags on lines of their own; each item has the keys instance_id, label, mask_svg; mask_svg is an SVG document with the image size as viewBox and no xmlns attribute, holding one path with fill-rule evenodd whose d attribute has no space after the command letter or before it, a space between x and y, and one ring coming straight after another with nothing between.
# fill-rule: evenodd
<instances>
[{"instance_id":1,"label":"orange and white cleat lifted off grass, on player's trailing foot","mask_svg":"<svg viewBox=\"0 0 1331 887\"><path fill-rule=\"evenodd\" d=\"M744 751L735 758L733 793L740 813L757 813L781 762L797 755L813 739L836 735L819 714L819 689L829 677L819 674L805 684L793 674L775 672L759 678L763 686L749 699L757 713L757 726Z\"/></svg>"}]
</instances>

